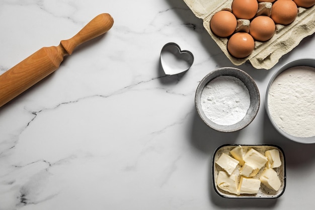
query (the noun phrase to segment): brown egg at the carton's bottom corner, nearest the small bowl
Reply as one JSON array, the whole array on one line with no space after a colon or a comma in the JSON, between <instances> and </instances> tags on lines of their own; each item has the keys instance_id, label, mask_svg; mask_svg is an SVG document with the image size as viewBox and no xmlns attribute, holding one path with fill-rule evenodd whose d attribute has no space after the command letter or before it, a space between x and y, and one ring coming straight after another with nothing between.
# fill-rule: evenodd
<instances>
[{"instance_id":1,"label":"brown egg at the carton's bottom corner, nearest the small bowl","mask_svg":"<svg viewBox=\"0 0 315 210\"><path fill-rule=\"evenodd\" d=\"M244 58L249 56L255 47L253 37L245 32L233 34L227 42L228 52L236 58Z\"/></svg>"}]
</instances>

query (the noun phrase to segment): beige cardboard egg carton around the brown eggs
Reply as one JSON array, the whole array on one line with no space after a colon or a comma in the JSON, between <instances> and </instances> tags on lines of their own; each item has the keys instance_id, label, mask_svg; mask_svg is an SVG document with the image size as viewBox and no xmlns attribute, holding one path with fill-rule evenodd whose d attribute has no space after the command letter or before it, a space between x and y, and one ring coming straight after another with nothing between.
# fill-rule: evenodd
<instances>
[{"instance_id":1,"label":"beige cardboard egg carton around the brown eggs","mask_svg":"<svg viewBox=\"0 0 315 210\"><path fill-rule=\"evenodd\" d=\"M258 69L270 69L286 53L296 47L300 41L315 32L315 6L305 9L298 8L296 19L289 25L276 24L273 37L265 42L255 41L254 51L246 58L231 56L226 48L228 39L214 35L210 29L212 16L221 10L231 11L233 0L184 0L197 18L203 20L203 26L224 54L235 65L241 65L247 60Z\"/></svg>"}]
</instances>

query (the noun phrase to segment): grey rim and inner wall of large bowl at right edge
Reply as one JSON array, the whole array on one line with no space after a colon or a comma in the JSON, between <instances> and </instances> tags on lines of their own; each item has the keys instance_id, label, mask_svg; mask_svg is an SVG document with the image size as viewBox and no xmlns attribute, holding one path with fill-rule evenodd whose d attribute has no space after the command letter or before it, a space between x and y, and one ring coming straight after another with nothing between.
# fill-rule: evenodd
<instances>
[{"instance_id":1,"label":"grey rim and inner wall of large bowl at right edge","mask_svg":"<svg viewBox=\"0 0 315 210\"><path fill-rule=\"evenodd\" d=\"M298 143L302 144L314 144L315 143L315 135L310 136L310 137L297 137L294 135L290 135L289 133L285 132L284 130L280 129L277 124L272 120L270 112L269 112L269 107L268 107L268 95L269 95L269 89L271 85L273 84L274 80L284 71L286 71L290 67L294 66L310 66L310 67L315 67L315 59L314 58L298 58L291 60L284 65L280 66L276 72L273 74L271 77L267 89L266 89L266 96L265 96L265 110L267 113L267 116L269 118L269 121L273 125L273 127L284 137Z\"/></svg>"}]
</instances>

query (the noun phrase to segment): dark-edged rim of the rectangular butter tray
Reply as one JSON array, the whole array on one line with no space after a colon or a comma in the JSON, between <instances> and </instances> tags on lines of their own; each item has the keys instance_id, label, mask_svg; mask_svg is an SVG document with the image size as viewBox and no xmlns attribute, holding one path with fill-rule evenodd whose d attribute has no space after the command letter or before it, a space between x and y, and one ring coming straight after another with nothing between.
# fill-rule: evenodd
<instances>
[{"instance_id":1,"label":"dark-edged rim of the rectangular butter tray","mask_svg":"<svg viewBox=\"0 0 315 210\"><path fill-rule=\"evenodd\" d=\"M226 147L226 146L246 146L246 147L259 147L259 146L269 146L269 147L275 147L277 148L278 150L281 151L282 155L283 155L283 173L284 173L284 176L283 176L283 189L282 189L282 192L280 194L278 194L277 196L273 196L273 197L266 197L266 196L261 196L261 197L254 197L254 196L228 196L228 195L223 195L221 194L220 192L218 192L217 188L216 188L216 184L215 184L215 180L214 180L214 166L215 166L215 162L214 162L214 158L215 158L215 155L216 153L218 152L219 149L223 148L223 147ZM259 199L259 198L268 198L268 199L274 199L274 198L278 198L280 197L281 195L283 195L284 191L285 191L285 188L286 188L286 161L285 161L285 155L284 155L284 151L283 149L278 146L278 145L273 145L273 144L224 144L224 145L221 145L219 147L217 147L213 153L213 156L212 156L212 172L211 172L211 175L212 175L212 184L213 184L213 188L214 188L214 191L221 197L224 197L224 198L256 198L256 199Z\"/></svg>"}]
</instances>

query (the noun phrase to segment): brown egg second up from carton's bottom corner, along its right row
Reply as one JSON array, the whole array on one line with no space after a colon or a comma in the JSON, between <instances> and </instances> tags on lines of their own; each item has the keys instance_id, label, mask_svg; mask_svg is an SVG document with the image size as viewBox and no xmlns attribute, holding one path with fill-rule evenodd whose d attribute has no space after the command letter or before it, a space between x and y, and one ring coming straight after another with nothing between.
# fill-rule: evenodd
<instances>
[{"instance_id":1,"label":"brown egg second up from carton's bottom corner, along its right row","mask_svg":"<svg viewBox=\"0 0 315 210\"><path fill-rule=\"evenodd\" d=\"M276 25L268 16L258 16L250 24L250 34L255 40L267 41L275 33Z\"/></svg>"}]
</instances>

